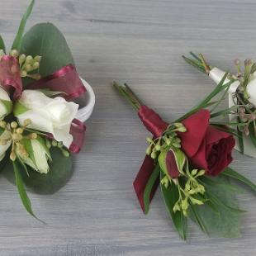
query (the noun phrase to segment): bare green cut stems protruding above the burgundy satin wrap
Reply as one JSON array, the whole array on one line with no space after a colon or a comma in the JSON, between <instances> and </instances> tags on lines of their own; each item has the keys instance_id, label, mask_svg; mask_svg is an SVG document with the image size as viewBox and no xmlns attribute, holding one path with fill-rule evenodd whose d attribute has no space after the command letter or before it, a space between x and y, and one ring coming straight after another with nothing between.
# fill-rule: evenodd
<instances>
[{"instance_id":1,"label":"bare green cut stems protruding above the burgundy satin wrap","mask_svg":"<svg viewBox=\"0 0 256 256\"><path fill-rule=\"evenodd\" d=\"M116 89L117 92L121 94L122 97L126 99L127 102L130 103L132 107L135 108L135 111L138 111L140 109L142 102L126 83L124 85L120 85L114 82L113 87Z\"/></svg>"}]
</instances>

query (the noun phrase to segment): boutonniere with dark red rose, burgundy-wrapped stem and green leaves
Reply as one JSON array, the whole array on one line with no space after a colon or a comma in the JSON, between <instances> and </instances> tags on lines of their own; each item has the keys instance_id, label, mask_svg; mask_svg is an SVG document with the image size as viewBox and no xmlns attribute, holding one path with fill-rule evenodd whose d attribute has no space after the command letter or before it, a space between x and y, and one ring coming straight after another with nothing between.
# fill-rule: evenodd
<instances>
[{"instance_id":1,"label":"boutonniere with dark red rose, burgundy-wrapped stem and green leaves","mask_svg":"<svg viewBox=\"0 0 256 256\"><path fill-rule=\"evenodd\" d=\"M152 134L147 138L145 160L133 183L141 209L145 214L149 212L150 201L160 185L168 213L182 239L187 239L188 219L209 236L239 236L239 220L244 211L235 198L238 184L256 192L254 183L229 166L235 146L233 131L212 121L222 112L214 109L221 101L216 96L230 86L224 83L226 76L227 73L196 107L170 123L145 106L127 85L114 83Z\"/></svg>"}]
</instances>

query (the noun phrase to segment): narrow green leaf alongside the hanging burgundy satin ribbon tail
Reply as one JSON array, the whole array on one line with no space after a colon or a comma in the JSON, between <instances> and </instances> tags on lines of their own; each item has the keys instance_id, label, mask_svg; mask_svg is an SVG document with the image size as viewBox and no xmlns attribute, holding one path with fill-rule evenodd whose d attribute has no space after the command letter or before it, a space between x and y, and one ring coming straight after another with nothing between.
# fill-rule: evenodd
<instances>
[{"instance_id":1,"label":"narrow green leaf alongside the hanging burgundy satin ribbon tail","mask_svg":"<svg viewBox=\"0 0 256 256\"><path fill-rule=\"evenodd\" d=\"M154 168L153 173L150 175L149 181L145 187L145 191L144 191L144 195L143 195L145 214L147 214L149 212L150 194L152 192L152 188L154 187L154 184L159 179L159 174L160 174L160 168L159 168L159 165L157 165Z\"/></svg>"}]
</instances>

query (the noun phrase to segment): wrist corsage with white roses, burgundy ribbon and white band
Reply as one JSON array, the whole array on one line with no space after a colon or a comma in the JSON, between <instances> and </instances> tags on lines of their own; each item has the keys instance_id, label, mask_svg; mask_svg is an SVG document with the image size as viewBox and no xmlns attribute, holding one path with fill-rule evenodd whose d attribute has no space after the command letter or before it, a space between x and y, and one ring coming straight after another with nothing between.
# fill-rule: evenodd
<instances>
[{"instance_id":1,"label":"wrist corsage with white roses, burgundy ribbon and white band","mask_svg":"<svg viewBox=\"0 0 256 256\"><path fill-rule=\"evenodd\" d=\"M71 154L83 146L83 122L95 96L54 25L37 24L23 36L33 5L9 52L0 36L0 165L3 176L16 183L26 211L35 216L26 188L52 194L68 182ZM84 95L87 104L74 102Z\"/></svg>"}]
</instances>

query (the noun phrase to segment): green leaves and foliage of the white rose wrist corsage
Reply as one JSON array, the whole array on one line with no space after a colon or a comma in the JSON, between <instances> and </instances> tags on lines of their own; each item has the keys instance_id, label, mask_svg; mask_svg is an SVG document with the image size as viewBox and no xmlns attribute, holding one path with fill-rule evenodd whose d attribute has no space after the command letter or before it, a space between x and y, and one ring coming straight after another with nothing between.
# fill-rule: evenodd
<instances>
[{"instance_id":1,"label":"green leaves and foliage of the white rose wrist corsage","mask_svg":"<svg viewBox=\"0 0 256 256\"><path fill-rule=\"evenodd\" d=\"M33 26L31 30L23 36L26 20L31 15L34 2L34 0L31 1L31 4L22 17L17 36L12 44L12 51L10 52L15 57L19 56L21 71L23 70L22 65L24 68L27 66L24 63L27 59L26 55L40 56L41 58L40 66L35 67L35 70L28 70L31 71L32 75L27 76L21 73L22 83L25 88L26 84L31 82L31 78L35 78L37 73L45 76L67 64L73 64L73 57L69 46L62 33L53 24L36 24L36 26ZM0 36L0 49L2 49L2 53L6 52L2 36ZM36 78L39 78L38 75ZM7 116L7 120L13 121L15 119L14 116L11 115ZM38 135L41 134L35 130L30 131L32 133L36 132ZM53 141L53 145L54 143L55 141ZM47 141L45 141L45 144L47 145ZM27 197L26 188L31 192L52 194L63 187L64 184L69 181L73 173L71 157L67 154L63 154L65 153L62 152L64 149L61 148L61 145L58 144L58 146L57 143L54 147L49 146L52 161L49 164L50 170L47 174L36 172L33 168L22 164L19 159L13 162L10 161L9 157L11 151L6 154L5 158L0 162L3 176L11 183L16 183L21 201L26 211L28 211L31 216L36 217L31 209L31 201Z\"/></svg>"}]
</instances>

